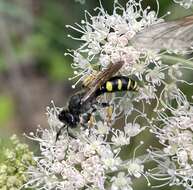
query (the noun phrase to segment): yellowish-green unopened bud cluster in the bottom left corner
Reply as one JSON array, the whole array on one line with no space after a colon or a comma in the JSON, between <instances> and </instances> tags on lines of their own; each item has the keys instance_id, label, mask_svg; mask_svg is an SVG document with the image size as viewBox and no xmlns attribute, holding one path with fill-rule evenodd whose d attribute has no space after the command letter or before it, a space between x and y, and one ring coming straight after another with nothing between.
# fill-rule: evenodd
<instances>
[{"instance_id":1,"label":"yellowish-green unopened bud cluster in the bottom left corner","mask_svg":"<svg viewBox=\"0 0 193 190\"><path fill-rule=\"evenodd\" d=\"M1 149L0 162L0 189L17 190L26 183L26 170L28 166L35 164L33 153L28 145L20 143L18 137L13 135Z\"/></svg>"}]
</instances>

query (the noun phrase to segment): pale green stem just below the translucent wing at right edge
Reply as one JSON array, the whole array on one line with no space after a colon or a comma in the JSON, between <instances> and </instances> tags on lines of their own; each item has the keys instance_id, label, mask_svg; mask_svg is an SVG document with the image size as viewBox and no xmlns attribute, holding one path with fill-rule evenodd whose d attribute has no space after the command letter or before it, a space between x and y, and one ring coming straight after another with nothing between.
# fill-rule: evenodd
<instances>
[{"instance_id":1,"label":"pale green stem just below the translucent wing at right edge","mask_svg":"<svg viewBox=\"0 0 193 190\"><path fill-rule=\"evenodd\" d=\"M176 56L172 56L172 55L162 55L162 59L171 65L176 64L176 63L183 63L186 66L193 67L192 61L187 60L187 59L182 58L182 57L176 57Z\"/></svg>"}]
</instances>

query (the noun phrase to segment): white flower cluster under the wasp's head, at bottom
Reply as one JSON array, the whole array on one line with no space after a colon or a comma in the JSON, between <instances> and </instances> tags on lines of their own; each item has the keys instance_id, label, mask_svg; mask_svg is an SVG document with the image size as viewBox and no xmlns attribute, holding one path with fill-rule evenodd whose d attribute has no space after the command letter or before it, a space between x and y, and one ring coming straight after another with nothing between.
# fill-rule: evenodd
<instances>
[{"instance_id":1,"label":"white flower cluster under the wasp's head, at bottom","mask_svg":"<svg viewBox=\"0 0 193 190\"><path fill-rule=\"evenodd\" d=\"M102 190L111 187L113 190L131 190L131 177L139 178L144 173L143 162L135 157L122 159L121 147L129 145L130 138L144 128L140 129L136 123L126 126L122 132L110 129L103 123L101 130L99 123L99 128L91 129L89 134L81 130L74 139L65 131L56 141L58 127L61 127L56 113L56 108L48 112L49 129L39 129L37 134L32 133L29 137L39 142L41 156L34 158L36 166L29 168L29 181L25 187L49 190Z\"/></svg>"}]
</instances>

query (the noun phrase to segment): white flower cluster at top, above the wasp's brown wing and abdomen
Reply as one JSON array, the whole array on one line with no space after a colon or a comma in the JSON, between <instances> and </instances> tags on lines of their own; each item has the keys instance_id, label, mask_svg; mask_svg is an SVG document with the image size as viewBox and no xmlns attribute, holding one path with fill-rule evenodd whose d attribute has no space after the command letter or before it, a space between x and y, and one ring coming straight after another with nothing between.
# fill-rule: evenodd
<instances>
[{"instance_id":1,"label":"white flower cluster at top, above the wasp's brown wing and abdomen","mask_svg":"<svg viewBox=\"0 0 193 190\"><path fill-rule=\"evenodd\" d=\"M96 11L99 12L97 16L91 16L86 11L85 20L82 20L82 25L77 24L77 28L67 26L82 34L80 39L69 35L73 39L83 41L82 46L70 54L74 58L72 67L78 70L75 74L82 76L80 80L94 74L97 65L103 70L110 63L118 61L124 62L120 74L135 75L140 80L142 74L147 72L150 62L156 70L161 69L157 51L137 49L130 42L143 28L162 21L157 18L156 12L150 11L150 7L143 9L141 0L129 1L126 8L115 1L112 15L109 15L102 5ZM163 76L154 77L157 83Z\"/></svg>"}]
</instances>

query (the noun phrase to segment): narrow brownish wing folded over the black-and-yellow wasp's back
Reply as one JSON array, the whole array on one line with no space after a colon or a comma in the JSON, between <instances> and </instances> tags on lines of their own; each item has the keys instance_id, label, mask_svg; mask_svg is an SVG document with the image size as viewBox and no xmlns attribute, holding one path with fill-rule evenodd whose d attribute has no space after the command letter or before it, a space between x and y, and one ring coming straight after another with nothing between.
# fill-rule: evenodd
<instances>
[{"instance_id":1,"label":"narrow brownish wing folded over the black-and-yellow wasp's back","mask_svg":"<svg viewBox=\"0 0 193 190\"><path fill-rule=\"evenodd\" d=\"M101 85L103 85L111 76L117 73L121 69L123 64L123 61L114 64L111 63L104 71L99 72L99 74L96 76L96 79L89 84L90 89L83 96L81 103L84 103L90 98L92 98L95 95L96 90Z\"/></svg>"}]
</instances>

